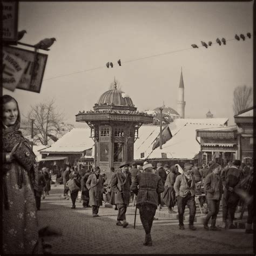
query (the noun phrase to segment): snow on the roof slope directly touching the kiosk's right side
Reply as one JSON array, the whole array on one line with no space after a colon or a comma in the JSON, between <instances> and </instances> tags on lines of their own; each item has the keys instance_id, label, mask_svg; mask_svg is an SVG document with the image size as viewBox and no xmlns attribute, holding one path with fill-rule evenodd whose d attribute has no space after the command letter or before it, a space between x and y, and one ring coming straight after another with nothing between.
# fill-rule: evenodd
<instances>
[{"instance_id":1,"label":"snow on the roof slope directly touching the kiosk's right side","mask_svg":"<svg viewBox=\"0 0 256 256\"><path fill-rule=\"evenodd\" d=\"M142 125L139 128L139 138L134 143L134 159L144 159L148 156L160 132L159 125ZM144 153L144 158L140 154Z\"/></svg>"}]
</instances>

